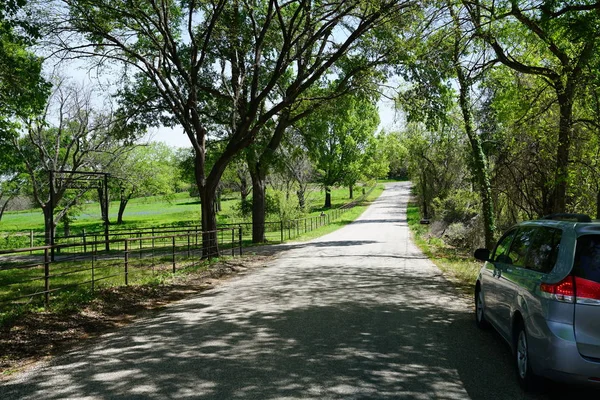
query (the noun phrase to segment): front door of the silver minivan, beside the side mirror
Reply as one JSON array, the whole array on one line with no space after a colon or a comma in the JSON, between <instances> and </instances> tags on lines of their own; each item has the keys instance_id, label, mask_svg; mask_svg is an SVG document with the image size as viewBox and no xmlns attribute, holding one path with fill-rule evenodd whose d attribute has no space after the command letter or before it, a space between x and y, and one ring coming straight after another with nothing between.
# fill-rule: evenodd
<instances>
[{"instance_id":1,"label":"front door of the silver minivan, beside the side mirror","mask_svg":"<svg viewBox=\"0 0 600 400\"><path fill-rule=\"evenodd\" d=\"M494 325L498 325L500 313L499 292L502 290L500 278L506 269L508 252L517 230L512 229L502 236L494 248L491 261L487 261L481 271L481 287L485 304L486 317Z\"/></svg>"}]
</instances>

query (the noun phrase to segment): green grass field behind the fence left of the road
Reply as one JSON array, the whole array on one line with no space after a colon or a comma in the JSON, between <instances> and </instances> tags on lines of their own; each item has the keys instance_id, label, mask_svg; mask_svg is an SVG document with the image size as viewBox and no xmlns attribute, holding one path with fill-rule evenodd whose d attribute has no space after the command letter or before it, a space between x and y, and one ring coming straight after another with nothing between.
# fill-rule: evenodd
<instances>
[{"instance_id":1,"label":"green grass field behind the fence left of the road","mask_svg":"<svg viewBox=\"0 0 600 400\"><path fill-rule=\"evenodd\" d=\"M279 222L269 224L266 232L267 240L271 243L280 242L282 237L284 241L308 240L332 232L354 221L371 201L379 197L382 191L383 185L377 185L355 207L343 211L328 210L328 216L323 217L320 214L323 210L324 193L315 190L307 198L310 213L307 213L302 219L284 223L283 231ZM360 197L362 190L356 190L355 193L356 197ZM334 209L349 201L347 190L332 191ZM234 211L235 204L235 199L223 201L223 211L219 215L221 223L223 223L222 221L231 223L236 220L236 223L242 222ZM128 228L155 226L155 224L176 225L182 222L197 223L194 219L179 219L178 216L189 218L192 210L196 210L199 214L199 204L190 201L187 195L185 197L183 195L176 196L170 201L160 198L137 199L130 206L130 219L126 225ZM96 212L96 207L97 204L92 204L84 208L73 225L84 227L82 229L101 227L95 221L96 217L99 218L99 212L93 214ZM12 220L13 223L21 221L16 223L17 226L29 223L31 229L34 227L39 229L41 224L39 221L41 213L36 215L35 212L30 211L10 213L9 215L11 217L9 221ZM251 230L244 229L243 246L251 246ZM147 235L144 234L144 236ZM127 263L124 258L124 242L122 241L113 243L110 252L104 252L102 248L98 248L98 253L89 253L93 249L89 243L87 245L88 253L85 255L77 254L77 251L83 251L81 245L72 250L64 248L58 252L57 260L49 265L48 274L49 288L56 291L50 294L50 303L53 309L73 307L79 301L88 301L93 297L90 297L89 294L92 289L124 285L126 279L129 284L136 285L168 281L173 276L174 264L177 273L186 273L190 269L208 268L211 262L201 260L202 244L201 237L198 240L198 235L195 238L194 236L185 236L176 239L133 240L130 242ZM175 248L171 246L171 240L178 241ZM224 256L231 255L232 251L237 253L239 244L237 230L232 233L220 234L219 247ZM244 251L252 253L251 249ZM125 268L125 265L128 268ZM44 296L39 293L45 290L44 276L43 252L30 254L28 251L0 256L0 304L2 305L0 307L0 325L2 320L14 317L21 312L19 310L23 307L27 310L41 309ZM34 296L32 297L32 295ZM69 305L70 303L73 304ZM21 304L21 306L15 306L15 304Z\"/></svg>"}]
</instances>

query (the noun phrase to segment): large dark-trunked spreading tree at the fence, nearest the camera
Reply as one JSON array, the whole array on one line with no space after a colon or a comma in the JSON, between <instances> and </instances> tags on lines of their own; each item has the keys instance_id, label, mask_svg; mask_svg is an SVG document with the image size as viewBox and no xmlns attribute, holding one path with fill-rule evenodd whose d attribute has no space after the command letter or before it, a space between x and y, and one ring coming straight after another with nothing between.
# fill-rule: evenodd
<instances>
[{"instance_id":1,"label":"large dark-trunked spreading tree at the fence, nearest the camera","mask_svg":"<svg viewBox=\"0 0 600 400\"><path fill-rule=\"evenodd\" d=\"M148 124L181 125L190 139L202 227L207 232L205 256L218 253L211 245L216 242L213 202L227 164L261 132L269 132L264 128L331 73L338 60L352 53L362 35L413 4L409 0L63 3L53 21L55 31L63 39L82 35L78 41L59 42L67 57L94 57L100 64L116 61L132 67L137 72L122 92L124 104L146 115ZM224 124L228 129L215 128ZM225 145L207 169L209 139L224 140Z\"/></svg>"}]
</instances>

